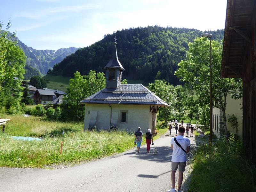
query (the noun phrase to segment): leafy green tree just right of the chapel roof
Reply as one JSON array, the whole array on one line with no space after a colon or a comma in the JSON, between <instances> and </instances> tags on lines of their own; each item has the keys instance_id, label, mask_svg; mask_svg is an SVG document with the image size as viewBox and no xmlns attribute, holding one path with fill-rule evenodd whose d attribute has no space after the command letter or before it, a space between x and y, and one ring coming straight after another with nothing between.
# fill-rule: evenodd
<instances>
[{"instance_id":1,"label":"leafy green tree just right of the chapel roof","mask_svg":"<svg viewBox=\"0 0 256 192\"><path fill-rule=\"evenodd\" d=\"M149 84L149 89L170 105L169 108L163 107L159 109L159 116L167 124L170 118L176 115L174 105L177 102L177 93L174 86L166 83L165 80L155 80L154 83Z\"/></svg>"}]
</instances>

